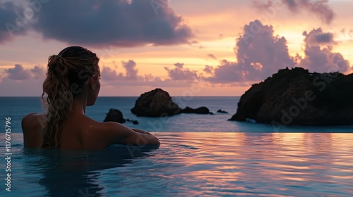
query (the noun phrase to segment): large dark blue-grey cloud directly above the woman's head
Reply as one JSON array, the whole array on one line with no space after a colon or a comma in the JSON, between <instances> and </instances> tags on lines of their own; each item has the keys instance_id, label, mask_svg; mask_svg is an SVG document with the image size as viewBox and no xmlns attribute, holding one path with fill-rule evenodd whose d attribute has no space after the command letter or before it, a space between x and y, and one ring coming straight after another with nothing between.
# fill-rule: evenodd
<instances>
[{"instance_id":1,"label":"large dark blue-grey cloud directly above the woman's head","mask_svg":"<svg viewBox=\"0 0 353 197\"><path fill-rule=\"evenodd\" d=\"M189 43L184 19L167 0L49 1L37 12L33 29L43 37L89 46ZM163 4L162 4L163 3Z\"/></svg>"}]
</instances>

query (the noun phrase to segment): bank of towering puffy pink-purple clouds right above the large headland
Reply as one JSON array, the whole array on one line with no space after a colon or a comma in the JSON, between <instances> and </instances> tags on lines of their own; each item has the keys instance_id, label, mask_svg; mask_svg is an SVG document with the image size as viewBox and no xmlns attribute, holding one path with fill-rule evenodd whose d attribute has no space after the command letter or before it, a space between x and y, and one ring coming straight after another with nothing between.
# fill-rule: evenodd
<instances>
[{"instance_id":1,"label":"bank of towering puffy pink-purple clouds right above the large headland","mask_svg":"<svg viewBox=\"0 0 353 197\"><path fill-rule=\"evenodd\" d=\"M244 34L234 48L237 61L220 61L215 67L206 65L211 83L259 82L282 68L300 66L311 72L349 72L349 62L340 53L333 53L334 34L321 28L304 32L305 56L289 56L285 37L274 35L272 26L255 20L244 26ZM325 46L325 45L328 46Z\"/></svg>"}]
</instances>

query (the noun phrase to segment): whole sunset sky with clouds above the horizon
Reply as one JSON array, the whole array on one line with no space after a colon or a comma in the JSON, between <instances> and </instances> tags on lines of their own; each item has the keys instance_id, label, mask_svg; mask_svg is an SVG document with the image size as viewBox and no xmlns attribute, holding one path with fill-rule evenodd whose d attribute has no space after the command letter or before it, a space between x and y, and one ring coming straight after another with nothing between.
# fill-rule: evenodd
<instances>
[{"instance_id":1,"label":"whole sunset sky with clouds above the horizon","mask_svg":"<svg viewBox=\"0 0 353 197\"><path fill-rule=\"evenodd\" d=\"M353 72L348 0L0 0L0 96L40 96L66 46L100 57L100 96L241 96L283 68Z\"/></svg>"}]
</instances>

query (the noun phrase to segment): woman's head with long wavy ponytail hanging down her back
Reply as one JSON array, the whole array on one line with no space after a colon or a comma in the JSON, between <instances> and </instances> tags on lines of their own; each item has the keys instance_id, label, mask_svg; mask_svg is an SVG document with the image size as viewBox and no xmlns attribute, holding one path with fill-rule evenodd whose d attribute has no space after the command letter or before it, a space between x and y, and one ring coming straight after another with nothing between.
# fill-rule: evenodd
<instances>
[{"instance_id":1,"label":"woman's head with long wavy ponytail hanging down her back","mask_svg":"<svg viewBox=\"0 0 353 197\"><path fill-rule=\"evenodd\" d=\"M99 58L80 46L69 46L49 56L47 78L43 83L42 100L47 106L43 128L43 148L59 146L59 132L66 122L75 97L85 96L92 106L100 91ZM47 98L44 99L44 94Z\"/></svg>"}]
</instances>

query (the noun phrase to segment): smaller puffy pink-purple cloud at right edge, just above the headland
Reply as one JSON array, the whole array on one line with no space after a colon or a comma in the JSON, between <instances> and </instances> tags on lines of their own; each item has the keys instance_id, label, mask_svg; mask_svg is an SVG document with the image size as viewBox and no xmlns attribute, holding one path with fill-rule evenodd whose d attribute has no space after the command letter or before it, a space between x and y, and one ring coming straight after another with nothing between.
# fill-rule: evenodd
<instances>
[{"instance_id":1,"label":"smaller puffy pink-purple cloud at right edge, just above the headland","mask_svg":"<svg viewBox=\"0 0 353 197\"><path fill-rule=\"evenodd\" d=\"M349 61L345 60L340 53L333 53L335 44L331 33L323 32L321 28L304 32L305 56L299 58L299 66L309 69L311 72L347 72L352 71ZM328 44L327 46L323 46Z\"/></svg>"}]
</instances>

